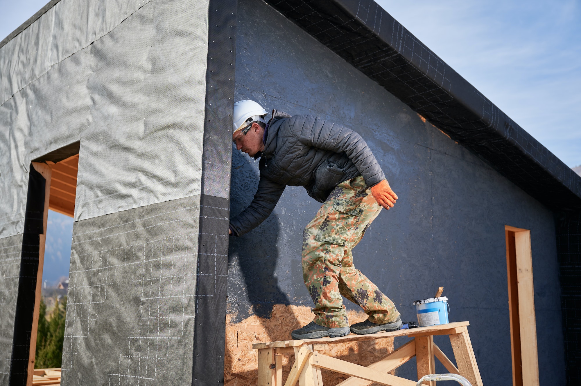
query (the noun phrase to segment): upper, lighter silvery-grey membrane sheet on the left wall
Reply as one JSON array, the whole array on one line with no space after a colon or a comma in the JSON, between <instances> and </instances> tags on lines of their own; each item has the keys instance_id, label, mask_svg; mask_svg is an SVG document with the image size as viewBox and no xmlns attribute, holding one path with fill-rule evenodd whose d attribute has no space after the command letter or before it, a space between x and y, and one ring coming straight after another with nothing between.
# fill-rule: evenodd
<instances>
[{"instance_id":1,"label":"upper, lighter silvery-grey membrane sheet on the left wall","mask_svg":"<svg viewBox=\"0 0 581 386\"><path fill-rule=\"evenodd\" d=\"M200 194L207 2L63 0L0 48L0 238L81 140L75 220Z\"/></svg>"}]
</instances>

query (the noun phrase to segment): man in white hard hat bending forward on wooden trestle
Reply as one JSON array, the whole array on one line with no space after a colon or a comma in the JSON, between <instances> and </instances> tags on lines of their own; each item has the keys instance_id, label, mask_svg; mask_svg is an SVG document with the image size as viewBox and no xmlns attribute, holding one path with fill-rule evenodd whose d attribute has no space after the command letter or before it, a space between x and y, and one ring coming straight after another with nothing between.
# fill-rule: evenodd
<instances>
[{"instance_id":1,"label":"man in white hard hat bending forward on wooden trestle","mask_svg":"<svg viewBox=\"0 0 581 386\"><path fill-rule=\"evenodd\" d=\"M303 232L303 278L315 303L315 318L292 332L294 339L399 330L395 305L353 266L351 250L382 207L397 195L367 143L353 130L312 115L290 116L251 100L234 104L236 149L260 158L260 181L250 206L230 220L240 236L266 220L286 185L303 186L323 205ZM349 327L343 298L369 318Z\"/></svg>"}]
</instances>

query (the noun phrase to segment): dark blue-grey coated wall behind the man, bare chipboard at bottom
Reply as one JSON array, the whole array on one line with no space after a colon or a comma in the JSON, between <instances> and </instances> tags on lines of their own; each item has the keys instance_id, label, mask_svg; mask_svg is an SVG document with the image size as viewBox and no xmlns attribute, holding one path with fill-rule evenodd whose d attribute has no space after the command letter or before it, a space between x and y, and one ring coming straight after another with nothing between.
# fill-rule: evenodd
<instances>
[{"instance_id":1,"label":"dark blue-grey coated wall behind the man, bare chipboard at bottom","mask_svg":"<svg viewBox=\"0 0 581 386\"><path fill-rule=\"evenodd\" d=\"M235 99L254 99L267 111L322 116L364 137L399 200L368 229L353 250L354 263L394 300L404 320L415 319L412 301L444 286L450 321L471 323L487 385L511 383L504 225L530 229L540 381L564 383L555 227L542 203L259 0L239 1ZM233 151L231 216L252 201L257 166ZM246 382L240 375L248 383L253 377L252 361L244 360L256 355L250 341L289 338L291 329L311 320L300 247L303 227L319 206L304 188L287 187L263 224L230 240L225 380L232 385ZM352 322L364 317L345 304ZM436 343L451 355L449 342ZM392 348L375 351L386 349ZM415 377L413 363L397 372Z\"/></svg>"}]
</instances>

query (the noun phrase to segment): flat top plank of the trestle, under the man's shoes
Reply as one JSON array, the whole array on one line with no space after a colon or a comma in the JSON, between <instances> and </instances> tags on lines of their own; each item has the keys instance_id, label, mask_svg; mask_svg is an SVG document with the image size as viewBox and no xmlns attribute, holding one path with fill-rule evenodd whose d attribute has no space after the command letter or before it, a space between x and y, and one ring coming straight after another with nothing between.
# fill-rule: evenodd
<instances>
[{"instance_id":1,"label":"flat top plank of the trestle, under the man's shoes","mask_svg":"<svg viewBox=\"0 0 581 386\"><path fill-rule=\"evenodd\" d=\"M368 335L350 334L339 338L318 338L318 339L304 339L304 340L283 340L278 342L254 343L252 348L274 348L274 347L297 347L304 344L339 344L346 342L357 342L364 340L375 340L387 337L396 336L428 336L428 335L449 335L458 333L458 328L469 326L469 322L454 322L445 325L418 327L417 329L406 329L392 332L384 332Z\"/></svg>"}]
</instances>

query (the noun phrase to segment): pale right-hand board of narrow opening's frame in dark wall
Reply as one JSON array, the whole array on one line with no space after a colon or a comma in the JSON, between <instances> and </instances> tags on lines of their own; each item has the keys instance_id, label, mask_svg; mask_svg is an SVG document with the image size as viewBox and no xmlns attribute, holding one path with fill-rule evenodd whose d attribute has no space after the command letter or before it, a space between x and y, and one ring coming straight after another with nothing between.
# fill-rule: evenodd
<instances>
[{"instance_id":1,"label":"pale right-hand board of narrow opening's frame in dark wall","mask_svg":"<svg viewBox=\"0 0 581 386\"><path fill-rule=\"evenodd\" d=\"M518 316L521 327L522 383L539 385L537 354L537 323L535 320L535 290L530 231L515 232L518 279Z\"/></svg>"}]
</instances>

